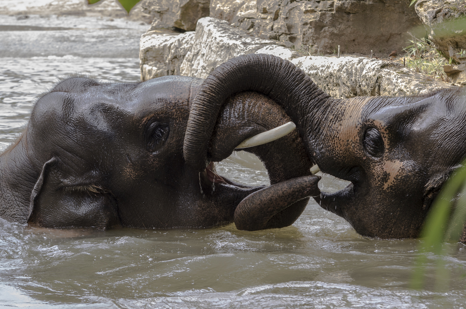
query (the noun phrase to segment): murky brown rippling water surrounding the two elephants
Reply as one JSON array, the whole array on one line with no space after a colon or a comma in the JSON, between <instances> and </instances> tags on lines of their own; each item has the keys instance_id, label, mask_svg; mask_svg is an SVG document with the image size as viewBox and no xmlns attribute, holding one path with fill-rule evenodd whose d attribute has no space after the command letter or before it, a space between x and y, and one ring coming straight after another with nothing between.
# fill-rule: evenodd
<instances>
[{"instance_id":1,"label":"murky brown rippling water surrounding the two elephants","mask_svg":"<svg viewBox=\"0 0 466 309\"><path fill-rule=\"evenodd\" d=\"M0 22L5 20L0 17ZM18 25L24 20L7 21ZM38 17L36 24L42 27L41 22ZM144 31L137 24L131 27L136 34ZM59 76L82 72L106 81L139 79L137 46L128 45L124 58L106 53L102 46L98 58L91 45L86 54L79 40L99 38L107 48L115 46L106 30L14 31L21 38L42 36L44 43L34 41L34 48L24 39L25 55L5 49L0 58L3 148L27 122L34 97ZM82 38L69 43L65 54L47 46L62 40L60 31L76 31L73 37ZM12 32L3 27L0 42ZM220 163L217 171L246 184L268 183L260 161L242 152ZM324 177L320 185L335 191L345 183ZM42 230L0 219L0 307L465 308L465 247L449 245L452 253L443 270L448 281L435 287L430 280L425 290L416 291L409 281L417 244L363 238L315 202L293 226L253 233L234 225L166 231ZM435 260L429 256L429 278Z\"/></svg>"}]
</instances>

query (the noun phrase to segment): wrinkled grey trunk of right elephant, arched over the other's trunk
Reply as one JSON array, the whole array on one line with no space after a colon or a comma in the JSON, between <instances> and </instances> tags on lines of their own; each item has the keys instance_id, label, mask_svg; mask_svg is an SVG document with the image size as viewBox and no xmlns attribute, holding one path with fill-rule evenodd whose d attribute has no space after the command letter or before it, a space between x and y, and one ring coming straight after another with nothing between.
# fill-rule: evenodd
<instances>
[{"instance_id":1,"label":"wrinkled grey trunk of right elephant, arched over the other's trunk","mask_svg":"<svg viewBox=\"0 0 466 309\"><path fill-rule=\"evenodd\" d=\"M302 128L311 128L314 108L329 95L294 64L273 55L249 54L217 67L202 83L192 103L183 152L186 163L203 171L210 161L208 144L227 97L240 91L256 91L278 103ZM307 149L310 152L310 149Z\"/></svg>"}]
</instances>

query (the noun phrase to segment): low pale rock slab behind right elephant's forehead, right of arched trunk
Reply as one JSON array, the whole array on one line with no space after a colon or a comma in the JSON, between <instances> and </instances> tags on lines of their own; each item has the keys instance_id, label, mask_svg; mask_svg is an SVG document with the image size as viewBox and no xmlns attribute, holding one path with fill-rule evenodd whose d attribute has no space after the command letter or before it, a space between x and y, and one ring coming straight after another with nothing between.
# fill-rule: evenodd
<instances>
[{"instance_id":1,"label":"low pale rock slab behind right elephant's forehead, right of arched trunk","mask_svg":"<svg viewBox=\"0 0 466 309\"><path fill-rule=\"evenodd\" d=\"M365 57L307 56L291 61L329 95L409 96L452 87L424 74L414 73L397 62Z\"/></svg>"}]
</instances>

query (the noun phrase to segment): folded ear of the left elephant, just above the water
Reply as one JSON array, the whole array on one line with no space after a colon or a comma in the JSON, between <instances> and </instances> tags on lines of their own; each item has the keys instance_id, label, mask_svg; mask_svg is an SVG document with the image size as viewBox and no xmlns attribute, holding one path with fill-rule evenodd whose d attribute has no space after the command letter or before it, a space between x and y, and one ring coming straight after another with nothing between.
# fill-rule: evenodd
<instances>
[{"instance_id":1,"label":"folded ear of the left elephant, just above the water","mask_svg":"<svg viewBox=\"0 0 466 309\"><path fill-rule=\"evenodd\" d=\"M29 223L41 227L97 227L119 225L115 198L92 179L63 181L62 161L51 158L42 167L31 192Z\"/></svg>"}]
</instances>

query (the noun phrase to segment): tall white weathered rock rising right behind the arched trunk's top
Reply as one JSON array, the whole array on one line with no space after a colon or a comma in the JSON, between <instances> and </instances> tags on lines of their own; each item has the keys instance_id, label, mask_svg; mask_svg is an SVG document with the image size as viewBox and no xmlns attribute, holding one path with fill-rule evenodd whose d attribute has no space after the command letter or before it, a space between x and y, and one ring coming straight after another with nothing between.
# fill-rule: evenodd
<instances>
[{"instance_id":1,"label":"tall white weathered rock rising right behind the arched trunk's top","mask_svg":"<svg viewBox=\"0 0 466 309\"><path fill-rule=\"evenodd\" d=\"M274 41L256 38L230 26L226 21L212 17L201 18L196 26L192 48L181 64L181 75L206 78L228 59L254 53L268 45L274 45ZM268 49L268 52L272 52L272 49ZM285 54L283 48L278 52Z\"/></svg>"}]
</instances>

